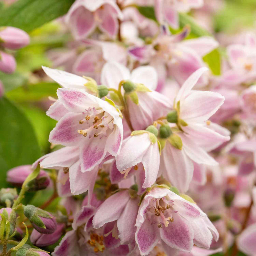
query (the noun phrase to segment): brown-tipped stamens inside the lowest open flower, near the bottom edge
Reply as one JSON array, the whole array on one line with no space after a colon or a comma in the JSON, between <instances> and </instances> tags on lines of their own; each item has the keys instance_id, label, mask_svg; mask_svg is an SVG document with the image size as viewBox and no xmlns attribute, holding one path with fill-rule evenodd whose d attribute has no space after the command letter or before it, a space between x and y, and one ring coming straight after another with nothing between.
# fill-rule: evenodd
<instances>
[{"instance_id":1,"label":"brown-tipped stamens inside the lowest open flower, near the bottom edge","mask_svg":"<svg viewBox=\"0 0 256 256\"><path fill-rule=\"evenodd\" d=\"M148 219L151 224L156 223L158 228L162 228L163 225L168 227L169 223L173 222L172 215L177 212L173 210L172 206L173 200L168 196L152 200L147 208Z\"/></svg>"}]
</instances>

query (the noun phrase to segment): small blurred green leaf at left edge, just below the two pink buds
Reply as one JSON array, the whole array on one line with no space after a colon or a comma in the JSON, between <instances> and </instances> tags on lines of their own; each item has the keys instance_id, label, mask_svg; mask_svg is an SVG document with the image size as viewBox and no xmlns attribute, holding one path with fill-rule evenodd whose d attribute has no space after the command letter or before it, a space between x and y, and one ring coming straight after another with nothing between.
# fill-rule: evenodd
<instances>
[{"instance_id":1,"label":"small blurred green leaf at left edge, just below the two pink buds","mask_svg":"<svg viewBox=\"0 0 256 256\"><path fill-rule=\"evenodd\" d=\"M0 80L4 84L4 91L9 92L16 87L26 84L28 79L16 71L13 74L0 72Z\"/></svg>"}]
</instances>

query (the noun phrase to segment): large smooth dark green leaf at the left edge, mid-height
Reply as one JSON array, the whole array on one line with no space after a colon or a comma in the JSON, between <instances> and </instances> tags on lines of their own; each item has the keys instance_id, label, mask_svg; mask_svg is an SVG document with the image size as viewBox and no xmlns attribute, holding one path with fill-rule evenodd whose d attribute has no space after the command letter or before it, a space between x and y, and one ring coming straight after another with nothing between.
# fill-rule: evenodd
<instances>
[{"instance_id":1,"label":"large smooth dark green leaf at the left edge, mid-height","mask_svg":"<svg viewBox=\"0 0 256 256\"><path fill-rule=\"evenodd\" d=\"M5 187L6 172L32 164L40 157L40 147L32 125L19 108L3 97L0 109L0 187Z\"/></svg>"}]
</instances>

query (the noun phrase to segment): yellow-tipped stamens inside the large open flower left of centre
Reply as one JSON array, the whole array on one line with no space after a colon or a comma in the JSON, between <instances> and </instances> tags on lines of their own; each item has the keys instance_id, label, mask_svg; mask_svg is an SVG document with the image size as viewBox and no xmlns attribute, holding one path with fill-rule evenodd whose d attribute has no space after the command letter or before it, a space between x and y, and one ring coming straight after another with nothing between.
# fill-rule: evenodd
<instances>
[{"instance_id":1,"label":"yellow-tipped stamens inside the large open flower left of centre","mask_svg":"<svg viewBox=\"0 0 256 256\"><path fill-rule=\"evenodd\" d=\"M108 136L114 129L113 117L105 112L102 108L96 110L95 108L88 108L83 113L85 116L79 121L79 124L85 126L86 129L78 130L77 132L84 137L102 139Z\"/></svg>"}]
</instances>

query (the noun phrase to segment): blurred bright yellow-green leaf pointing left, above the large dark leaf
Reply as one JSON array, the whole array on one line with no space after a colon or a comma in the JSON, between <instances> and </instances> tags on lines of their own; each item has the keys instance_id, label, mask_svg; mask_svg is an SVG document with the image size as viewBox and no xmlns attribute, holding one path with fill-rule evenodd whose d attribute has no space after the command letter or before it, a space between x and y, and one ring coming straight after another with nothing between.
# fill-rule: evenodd
<instances>
[{"instance_id":1,"label":"blurred bright yellow-green leaf pointing left, above the large dark leaf","mask_svg":"<svg viewBox=\"0 0 256 256\"><path fill-rule=\"evenodd\" d=\"M57 83L51 82L29 84L7 92L6 97L19 103L47 99L49 96L57 98L56 92L59 87Z\"/></svg>"}]
</instances>

